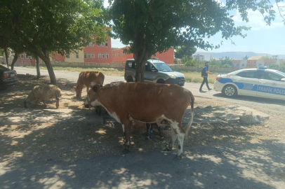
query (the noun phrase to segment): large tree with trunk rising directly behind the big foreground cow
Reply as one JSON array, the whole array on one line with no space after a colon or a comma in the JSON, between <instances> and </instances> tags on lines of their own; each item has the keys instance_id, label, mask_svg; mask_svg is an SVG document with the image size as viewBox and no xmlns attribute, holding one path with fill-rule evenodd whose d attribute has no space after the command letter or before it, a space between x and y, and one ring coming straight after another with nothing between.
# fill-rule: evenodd
<instances>
[{"instance_id":1,"label":"large tree with trunk rising directly behind the big foreground cow","mask_svg":"<svg viewBox=\"0 0 285 189\"><path fill-rule=\"evenodd\" d=\"M114 0L110 1L114 33L130 45L137 64L136 81L144 80L144 64L155 52L182 45L197 48L219 48L206 41L220 32L223 38L245 37L247 27L234 26L229 10L237 9L248 21L248 9L259 10L270 24L274 11L269 1L227 1L225 6L209 0ZM261 15L260 15L261 16Z\"/></svg>"}]
</instances>

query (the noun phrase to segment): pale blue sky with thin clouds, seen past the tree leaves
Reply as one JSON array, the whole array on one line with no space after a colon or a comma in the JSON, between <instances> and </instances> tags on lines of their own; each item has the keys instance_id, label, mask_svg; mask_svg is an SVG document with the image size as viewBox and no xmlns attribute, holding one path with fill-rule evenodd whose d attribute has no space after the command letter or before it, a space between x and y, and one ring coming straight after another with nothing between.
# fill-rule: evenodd
<instances>
[{"instance_id":1,"label":"pale blue sky with thin clouds, seen past the tree leaves","mask_svg":"<svg viewBox=\"0 0 285 189\"><path fill-rule=\"evenodd\" d=\"M221 2L220 0L216 0ZM222 0L222 5L223 5ZM225 2L225 1L224 1ZM104 2L104 6L108 6L107 0ZM279 6L285 6L285 3L280 3ZM239 13L236 10L232 10L230 15L234 15L232 18L236 26L251 27L250 31L244 31L247 34L245 38L241 36L235 36L232 38L235 44L231 41L222 38L221 34L216 34L206 40L217 45L220 41L223 41L223 45L220 48L208 51L198 49L197 52L256 52L267 53L271 55L285 55L285 25L282 22L279 11L276 4L274 4L274 10L277 12L275 20L272 25L266 25L263 20L263 15L258 11L248 10L249 22L243 22ZM285 12L284 12L285 14ZM126 45L122 44L120 39L112 38L112 48L123 48Z\"/></svg>"}]
</instances>

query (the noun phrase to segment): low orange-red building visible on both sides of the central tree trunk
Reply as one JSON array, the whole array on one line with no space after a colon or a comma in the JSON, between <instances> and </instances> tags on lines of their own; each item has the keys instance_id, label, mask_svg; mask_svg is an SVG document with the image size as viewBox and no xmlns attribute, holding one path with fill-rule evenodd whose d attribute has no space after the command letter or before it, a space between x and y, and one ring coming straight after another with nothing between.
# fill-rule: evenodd
<instances>
[{"instance_id":1,"label":"low orange-red building visible on both sides of the central tree trunk","mask_svg":"<svg viewBox=\"0 0 285 189\"><path fill-rule=\"evenodd\" d=\"M155 56L159 60L165 62L166 64L174 64L174 49L171 48L166 52L157 52ZM118 48L112 50L112 63L113 64L125 64L127 59L133 59L133 53L127 55L124 53L124 48Z\"/></svg>"}]
</instances>

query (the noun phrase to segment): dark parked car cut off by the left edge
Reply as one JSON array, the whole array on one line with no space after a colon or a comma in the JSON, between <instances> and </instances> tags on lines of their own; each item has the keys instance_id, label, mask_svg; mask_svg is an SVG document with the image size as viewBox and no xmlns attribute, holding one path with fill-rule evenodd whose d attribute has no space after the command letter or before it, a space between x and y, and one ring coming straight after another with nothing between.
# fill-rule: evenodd
<instances>
[{"instance_id":1,"label":"dark parked car cut off by the left edge","mask_svg":"<svg viewBox=\"0 0 285 189\"><path fill-rule=\"evenodd\" d=\"M0 89L6 89L17 82L17 72L0 65Z\"/></svg>"}]
</instances>

